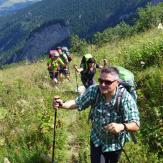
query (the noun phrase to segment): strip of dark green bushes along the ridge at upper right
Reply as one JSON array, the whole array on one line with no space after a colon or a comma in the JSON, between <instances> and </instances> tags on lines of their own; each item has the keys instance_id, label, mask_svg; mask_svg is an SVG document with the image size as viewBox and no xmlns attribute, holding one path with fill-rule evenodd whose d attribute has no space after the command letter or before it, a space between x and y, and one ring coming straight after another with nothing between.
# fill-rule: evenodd
<instances>
[{"instance_id":1,"label":"strip of dark green bushes along the ridge at upper right","mask_svg":"<svg viewBox=\"0 0 163 163\"><path fill-rule=\"evenodd\" d=\"M163 21L163 3L157 6L148 4L145 8L138 9L137 18L134 25L121 22L114 28L108 28L103 32L97 32L92 37L92 43L102 46L105 43L116 41L125 37L135 35L156 27Z\"/></svg>"}]
</instances>

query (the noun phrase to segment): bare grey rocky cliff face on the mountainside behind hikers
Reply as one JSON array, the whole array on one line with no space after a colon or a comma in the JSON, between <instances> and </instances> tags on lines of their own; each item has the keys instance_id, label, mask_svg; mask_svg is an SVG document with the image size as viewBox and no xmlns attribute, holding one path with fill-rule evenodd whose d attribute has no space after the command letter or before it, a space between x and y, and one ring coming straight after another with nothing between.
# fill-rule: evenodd
<instances>
[{"instance_id":1,"label":"bare grey rocky cliff face on the mountainside behind hikers","mask_svg":"<svg viewBox=\"0 0 163 163\"><path fill-rule=\"evenodd\" d=\"M46 25L36 29L27 39L24 48L13 55L7 63L20 60L35 60L45 54L54 45L64 41L70 36L69 27L62 22Z\"/></svg>"}]
</instances>

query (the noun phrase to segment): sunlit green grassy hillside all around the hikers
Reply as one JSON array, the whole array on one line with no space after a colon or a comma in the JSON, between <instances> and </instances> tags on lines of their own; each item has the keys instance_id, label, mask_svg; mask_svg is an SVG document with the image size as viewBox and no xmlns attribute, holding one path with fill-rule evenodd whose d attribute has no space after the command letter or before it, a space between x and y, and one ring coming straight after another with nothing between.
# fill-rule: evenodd
<instances>
[{"instance_id":1,"label":"sunlit green grassy hillside all around the hikers","mask_svg":"<svg viewBox=\"0 0 163 163\"><path fill-rule=\"evenodd\" d=\"M124 31L123 27L122 23L119 30ZM98 63L106 58L109 64L124 66L135 74L141 129L136 134L138 144L129 142L125 146L134 163L163 163L163 31L154 24L152 27L137 35L127 37L124 33L124 37L101 42L100 48L99 44L88 46L78 36L72 37L72 50L78 52L81 43L80 50L87 49ZM72 62L79 64L80 57L74 55ZM75 88L72 70L71 82L65 80L56 89L50 82L46 60L10 65L1 70L0 162L7 157L12 163L37 163L42 161L41 154L51 156L52 98L55 95L64 100L75 98ZM90 162L88 112L89 109L82 113L58 110L55 160L59 163ZM120 163L127 163L124 154Z\"/></svg>"}]
</instances>

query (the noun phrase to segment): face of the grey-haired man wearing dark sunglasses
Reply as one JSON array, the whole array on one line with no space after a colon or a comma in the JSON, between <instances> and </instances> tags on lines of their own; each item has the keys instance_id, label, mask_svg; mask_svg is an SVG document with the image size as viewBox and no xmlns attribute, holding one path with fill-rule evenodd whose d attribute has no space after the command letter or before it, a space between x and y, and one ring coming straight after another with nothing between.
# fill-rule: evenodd
<instances>
[{"instance_id":1,"label":"face of the grey-haired man wearing dark sunglasses","mask_svg":"<svg viewBox=\"0 0 163 163\"><path fill-rule=\"evenodd\" d=\"M101 94L112 95L116 87L118 86L118 81L115 80L115 76L110 73L101 73L99 78L99 88Z\"/></svg>"}]
</instances>

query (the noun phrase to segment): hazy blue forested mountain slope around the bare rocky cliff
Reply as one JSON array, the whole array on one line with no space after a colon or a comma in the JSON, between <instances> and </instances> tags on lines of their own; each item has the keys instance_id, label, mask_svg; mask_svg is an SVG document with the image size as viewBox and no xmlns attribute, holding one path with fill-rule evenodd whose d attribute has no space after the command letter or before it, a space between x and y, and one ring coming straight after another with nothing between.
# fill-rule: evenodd
<instances>
[{"instance_id":1,"label":"hazy blue forested mountain slope around the bare rocky cliff","mask_svg":"<svg viewBox=\"0 0 163 163\"><path fill-rule=\"evenodd\" d=\"M31 32L49 21L63 20L68 25L70 33L88 37L132 15L138 7L144 6L147 2L148 0L114 2L111 0L44 0L38 2L11 16L0 18L0 63L13 62L13 56L17 56L16 58L20 60L24 59L18 55L23 53ZM53 39L55 38L49 37L49 40ZM38 56L41 55L39 51L36 53L39 53ZM25 54L23 53L22 56ZM30 57L27 55L26 58Z\"/></svg>"}]
</instances>

